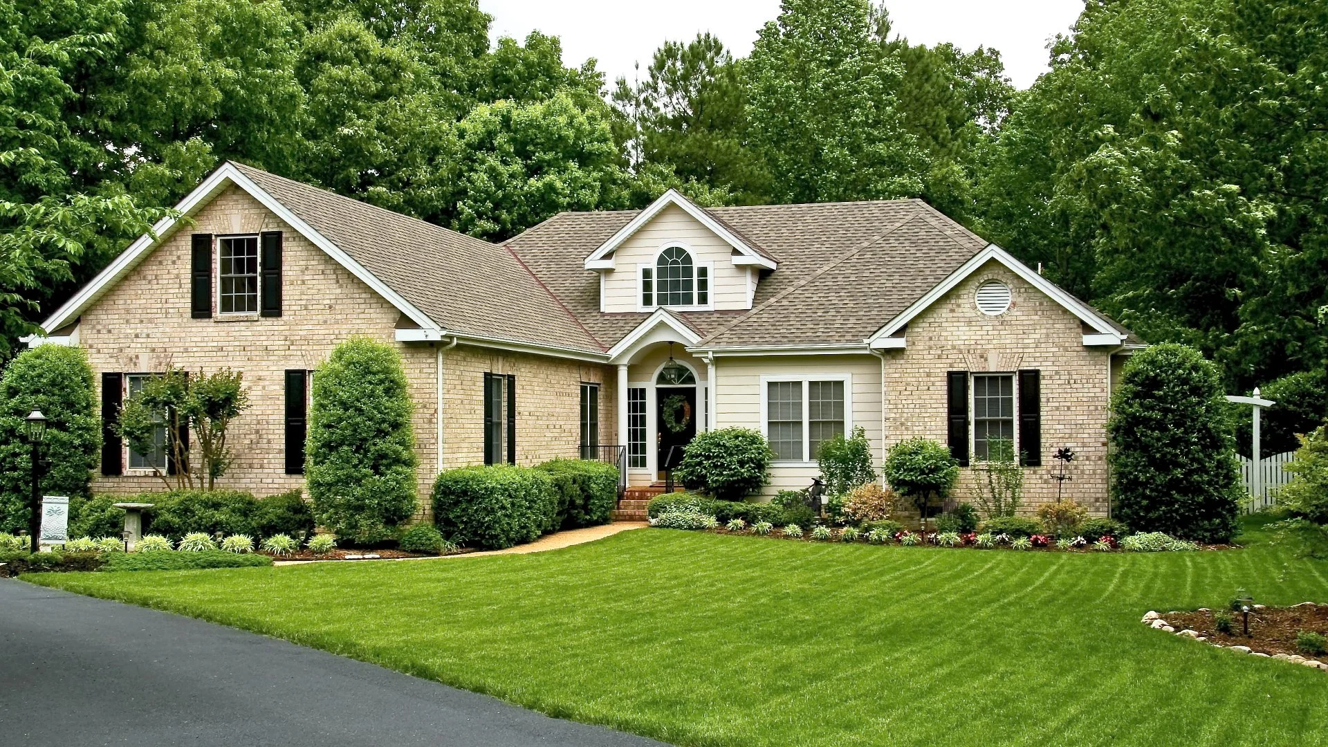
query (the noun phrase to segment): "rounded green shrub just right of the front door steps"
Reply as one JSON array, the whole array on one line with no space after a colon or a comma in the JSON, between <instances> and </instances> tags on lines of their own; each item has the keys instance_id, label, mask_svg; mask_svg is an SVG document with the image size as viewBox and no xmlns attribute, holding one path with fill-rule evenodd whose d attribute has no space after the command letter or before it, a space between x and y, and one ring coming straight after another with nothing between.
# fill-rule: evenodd
<instances>
[{"instance_id":1,"label":"rounded green shrub just right of the front door steps","mask_svg":"<svg viewBox=\"0 0 1328 747\"><path fill-rule=\"evenodd\" d=\"M720 428L697 433L673 471L688 490L741 500L770 479L770 444L760 431Z\"/></svg>"}]
</instances>

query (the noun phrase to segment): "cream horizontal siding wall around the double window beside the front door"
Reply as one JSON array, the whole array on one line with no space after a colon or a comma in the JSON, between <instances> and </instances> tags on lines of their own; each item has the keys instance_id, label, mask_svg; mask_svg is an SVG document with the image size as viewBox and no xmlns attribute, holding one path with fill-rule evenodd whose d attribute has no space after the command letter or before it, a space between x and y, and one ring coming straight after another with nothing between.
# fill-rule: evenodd
<instances>
[{"instance_id":1,"label":"cream horizontal siding wall around the double window beside the front door","mask_svg":"<svg viewBox=\"0 0 1328 747\"><path fill-rule=\"evenodd\" d=\"M853 377L853 425L861 425L871 440L872 463L880 469L880 359L874 355L807 355L807 356L753 356L717 358L714 377L716 425L741 425L761 429L761 376L849 374ZM801 490L811 484L821 471L809 467L774 467L770 484L762 490L773 496L777 490Z\"/></svg>"}]
</instances>

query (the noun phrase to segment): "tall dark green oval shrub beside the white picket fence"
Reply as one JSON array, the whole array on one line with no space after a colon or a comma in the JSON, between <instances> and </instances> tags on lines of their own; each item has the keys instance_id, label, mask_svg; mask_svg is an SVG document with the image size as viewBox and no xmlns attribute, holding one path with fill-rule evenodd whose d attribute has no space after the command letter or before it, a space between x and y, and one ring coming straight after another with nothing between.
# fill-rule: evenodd
<instances>
[{"instance_id":1,"label":"tall dark green oval shrub beside the white picket fence","mask_svg":"<svg viewBox=\"0 0 1328 747\"><path fill-rule=\"evenodd\" d=\"M1231 540L1243 490L1226 404L1218 368L1194 348L1130 358L1108 423L1116 518L1135 532Z\"/></svg>"}]
</instances>

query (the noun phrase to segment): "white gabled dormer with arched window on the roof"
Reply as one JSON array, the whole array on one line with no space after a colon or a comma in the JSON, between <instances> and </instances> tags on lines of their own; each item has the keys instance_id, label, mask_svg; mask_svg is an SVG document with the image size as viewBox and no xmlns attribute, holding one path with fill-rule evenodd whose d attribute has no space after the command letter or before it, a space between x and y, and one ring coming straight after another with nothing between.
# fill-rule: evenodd
<instances>
[{"instance_id":1,"label":"white gabled dormer with arched window on the roof","mask_svg":"<svg viewBox=\"0 0 1328 747\"><path fill-rule=\"evenodd\" d=\"M752 308L762 270L776 261L668 190L586 258L600 275L600 311Z\"/></svg>"}]
</instances>

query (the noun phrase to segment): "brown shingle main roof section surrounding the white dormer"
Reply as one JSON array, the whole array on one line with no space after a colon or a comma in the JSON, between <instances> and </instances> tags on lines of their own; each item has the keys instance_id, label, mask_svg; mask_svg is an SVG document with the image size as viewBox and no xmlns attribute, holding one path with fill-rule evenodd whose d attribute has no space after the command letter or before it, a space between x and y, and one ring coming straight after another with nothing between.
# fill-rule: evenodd
<instances>
[{"instance_id":1,"label":"brown shingle main roof section surrounding the white dormer","mask_svg":"<svg viewBox=\"0 0 1328 747\"><path fill-rule=\"evenodd\" d=\"M780 263L750 311L679 314L714 347L861 343L987 246L918 199L708 211ZM602 314L583 261L635 215L560 213L507 242L610 346L649 314Z\"/></svg>"}]
</instances>

